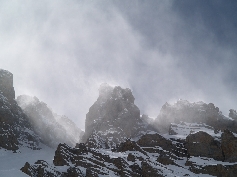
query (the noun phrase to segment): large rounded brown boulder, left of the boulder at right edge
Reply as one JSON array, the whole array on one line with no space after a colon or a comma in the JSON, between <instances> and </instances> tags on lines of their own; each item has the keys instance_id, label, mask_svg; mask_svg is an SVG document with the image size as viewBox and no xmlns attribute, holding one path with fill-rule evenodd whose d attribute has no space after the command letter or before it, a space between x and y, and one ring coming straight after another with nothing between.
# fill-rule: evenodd
<instances>
[{"instance_id":1,"label":"large rounded brown boulder, left of the boulder at right edge","mask_svg":"<svg viewBox=\"0 0 237 177\"><path fill-rule=\"evenodd\" d=\"M186 138L187 153L189 156L210 157L216 160L224 160L220 142L206 132L199 131L190 134Z\"/></svg>"}]
</instances>

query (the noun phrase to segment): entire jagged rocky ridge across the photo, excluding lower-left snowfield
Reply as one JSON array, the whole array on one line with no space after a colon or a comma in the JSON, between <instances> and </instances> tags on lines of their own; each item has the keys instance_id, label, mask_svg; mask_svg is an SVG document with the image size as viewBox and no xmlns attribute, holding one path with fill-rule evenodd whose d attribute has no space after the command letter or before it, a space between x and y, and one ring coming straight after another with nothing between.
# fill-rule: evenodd
<instances>
[{"instance_id":1,"label":"entire jagged rocky ridge across the photo, excluding lower-left snowfield","mask_svg":"<svg viewBox=\"0 0 237 177\"><path fill-rule=\"evenodd\" d=\"M26 155L29 150L43 152L42 142L56 148L53 160L34 163L29 157L19 169L28 176L237 174L236 110L230 109L227 117L213 103L178 100L173 105L165 103L152 120L140 115L134 100L130 89L102 84L79 142L81 132L71 128L74 123L53 113L37 97L25 95L15 100L13 75L0 70L0 152L19 154L22 148ZM70 138L73 135L77 140Z\"/></svg>"}]
</instances>

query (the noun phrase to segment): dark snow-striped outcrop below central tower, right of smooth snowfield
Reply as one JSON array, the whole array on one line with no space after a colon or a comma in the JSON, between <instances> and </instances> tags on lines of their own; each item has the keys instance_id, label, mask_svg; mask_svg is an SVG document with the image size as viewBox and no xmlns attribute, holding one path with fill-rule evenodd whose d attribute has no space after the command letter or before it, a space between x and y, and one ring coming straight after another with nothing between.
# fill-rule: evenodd
<instances>
[{"instance_id":1,"label":"dark snow-striped outcrop below central tower, right of smooth snowfield","mask_svg":"<svg viewBox=\"0 0 237 177\"><path fill-rule=\"evenodd\" d=\"M128 175L133 173L124 158L111 158L108 154L87 148L84 144L78 144L77 148L60 144L55 152L53 162L55 166L73 164L78 168L86 168L86 176L89 174L109 175L111 173L123 176L126 173Z\"/></svg>"}]
</instances>

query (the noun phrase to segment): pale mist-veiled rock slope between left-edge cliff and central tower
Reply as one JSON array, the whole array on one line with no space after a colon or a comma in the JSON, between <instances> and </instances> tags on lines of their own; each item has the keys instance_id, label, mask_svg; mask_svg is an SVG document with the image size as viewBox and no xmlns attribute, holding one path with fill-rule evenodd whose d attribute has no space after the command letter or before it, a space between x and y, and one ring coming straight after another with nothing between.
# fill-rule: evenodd
<instances>
[{"instance_id":1,"label":"pale mist-veiled rock slope between left-edge cliff and central tower","mask_svg":"<svg viewBox=\"0 0 237 177\"><path fill-rule=\"evenodd\" d=\"M18 96L17 103L44 144L55 148L59 143L79 143L82 131L66 116L53 113L46 103L27 95Z\"/></svg>"}]
</instances>

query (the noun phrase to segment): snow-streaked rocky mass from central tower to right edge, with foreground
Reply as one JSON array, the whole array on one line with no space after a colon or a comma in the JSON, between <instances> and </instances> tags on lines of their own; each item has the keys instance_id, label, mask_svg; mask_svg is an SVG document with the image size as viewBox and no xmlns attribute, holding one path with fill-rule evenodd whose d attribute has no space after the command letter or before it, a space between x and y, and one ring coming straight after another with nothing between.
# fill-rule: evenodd
<instances>
[{"instance_id":1,"label":"snow-streaked rocky mass from central tower to right edge, with foreground","mask_svg":"<svg viewBox=\"0 0 237 177\"><path fill-rule=\"evenodd\" d=\"M52 163L29 176L236 176L236 111L179 100L156 120L140 116L130 89L103 84L86 116L82 143L59 144Z\"/></svg>"}]
</instances>

